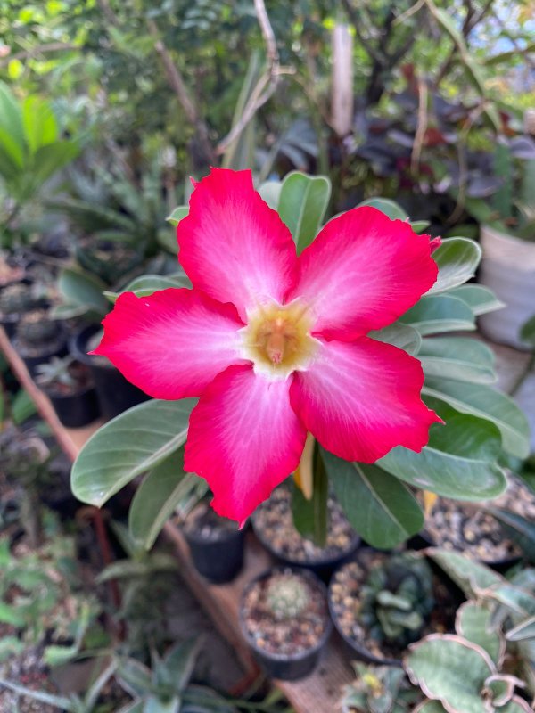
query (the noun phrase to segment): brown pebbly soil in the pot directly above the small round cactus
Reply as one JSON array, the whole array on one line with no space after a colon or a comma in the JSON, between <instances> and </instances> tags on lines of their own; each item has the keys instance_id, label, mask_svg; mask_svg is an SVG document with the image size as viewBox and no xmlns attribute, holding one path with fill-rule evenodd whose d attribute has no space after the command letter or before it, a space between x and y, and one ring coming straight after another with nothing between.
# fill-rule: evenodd
<instances>
[{"instance_id":1,"label":"brown pebbly soil in the pot directly above the small round cactus","mask_svg":"<svg viewBox=\"0 0 535 713\"><path fill-rule=\"evenodd\" d=\"M355 547L357 534L351 528L342 508L333 498L328 500L329 530L325 547L318 547L302 537L293 525L292 495L286 487L276 488L266 503L252 517L259 539L283 560L292 562L328 561L349 554Z\"/></svg>"}]
</instances>

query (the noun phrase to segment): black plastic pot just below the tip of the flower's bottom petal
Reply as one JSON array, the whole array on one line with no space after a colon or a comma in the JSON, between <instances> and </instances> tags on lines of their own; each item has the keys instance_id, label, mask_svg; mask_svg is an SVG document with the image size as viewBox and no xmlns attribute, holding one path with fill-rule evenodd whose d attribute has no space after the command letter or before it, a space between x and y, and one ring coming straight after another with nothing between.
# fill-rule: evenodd
<instances>
[{"instance_id":1,"label":"black plastic pot just below the tip of the flower's bottom petal","mask_svg":"<svg viewBox=\"0 0 535 713\"><path fill-rule=\"evenodd\" d=\"M201 532L185 530L195 569L213 584L230 582L243 567L243 529L227 529L218 539L203 537Z\"/></svg>"}]
</instances>

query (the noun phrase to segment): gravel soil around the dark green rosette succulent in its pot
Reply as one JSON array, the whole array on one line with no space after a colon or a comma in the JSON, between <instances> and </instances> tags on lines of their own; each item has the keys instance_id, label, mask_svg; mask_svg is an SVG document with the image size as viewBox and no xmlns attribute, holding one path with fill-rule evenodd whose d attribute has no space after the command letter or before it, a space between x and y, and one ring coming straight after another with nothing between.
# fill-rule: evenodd
<instances>
[{"instance_id":1,"label":"gravel soil around the dark green rosette succulent in its pot","mask_svg":"<svg viewBox=\"0 0 535 713\"><path fill-rule=\"evenodd\" d=\"M366 649L377 659L399 660L404 650L388 641L372 639L367 628L358 620L360 590L366 582L368 572L374 565L382 563L390 556L390 553L360 550L358 560L345 564L334 573L329 586L329 598L336 627L356 647ZM445 633L453 629L457 602L452 600L448 587L435 575L433 594L435 606L422 636L432 632Z\"/></svg>"}]
</instances>

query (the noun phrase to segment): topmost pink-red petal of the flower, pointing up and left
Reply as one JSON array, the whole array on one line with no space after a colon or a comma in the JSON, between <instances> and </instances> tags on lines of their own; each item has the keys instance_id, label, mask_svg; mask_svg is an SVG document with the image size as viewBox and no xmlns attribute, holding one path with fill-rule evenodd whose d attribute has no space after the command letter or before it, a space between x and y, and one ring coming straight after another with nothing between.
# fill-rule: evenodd
<instances>
[{"instance_id":1,"label":"topmost pink-red petal of the flower, pointing up and left","mask_svg":"<svg viewBox=\"0 0 535 713\"><path fill-rule=\"evenodd\" d=\"M260 302L282 303L295 283L292 235L252 185L251 171L212 168L177 227L178 259L193 283L245 319Z\"/></svg>"}]
</instances>

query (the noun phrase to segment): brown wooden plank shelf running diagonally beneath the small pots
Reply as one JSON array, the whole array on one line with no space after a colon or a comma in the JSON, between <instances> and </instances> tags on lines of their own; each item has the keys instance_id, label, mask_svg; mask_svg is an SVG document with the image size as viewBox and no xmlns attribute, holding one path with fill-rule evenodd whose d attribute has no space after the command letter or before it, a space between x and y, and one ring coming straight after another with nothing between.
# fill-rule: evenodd
<instances>
[{"instance_id":1,"label":"brown wooden plank shelf running diagonally beneath the small pots","mask_svg":"<svg viewBox=\"0 0 535 713\"><path fill-rule=\"evenodd\" d=\"M86 440L100 428L103 421L91 423L82 429L66 429L56 416L48 397L37 388L26 365L12 348L1 327L0 350L4 353L21 386L28 391L35 402L39 414L50 426L58 444L74 461ZM240 631L239 606L243 586L273 564L270 555L259 544L256 537L249 533L241 574L230 584L211 585L193 567L189 548L177 525L169 521L164 528L164 533L176 547L177 557L181 563L181 575L212 619L214 626L233 647L245 670L250 675L258 673L258 665L252 657L249 646L243 641ZM333 633L323 659L311 676L295 683L274 681L298 713L335 713L338 709L342 686L350 683L353 678L349 659L342 649L343 645L340 637Z\"/></svg>"}]
</instances>

